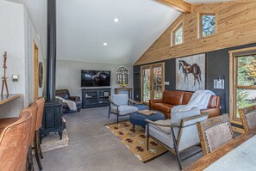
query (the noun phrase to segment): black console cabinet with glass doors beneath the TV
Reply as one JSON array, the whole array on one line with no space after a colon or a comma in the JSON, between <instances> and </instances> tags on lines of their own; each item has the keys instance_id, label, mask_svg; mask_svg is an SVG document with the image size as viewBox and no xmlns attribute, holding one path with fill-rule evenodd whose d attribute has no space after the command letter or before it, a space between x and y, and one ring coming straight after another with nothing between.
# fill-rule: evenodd
<instances>
[{"instance_id":1,"label":"black console cabinet with glass doors beneath the TV","mask_svg":"<svg viewBox=\"0 0 256 171\"><path fill-rule=\"evenodd\" d=\"M109 106L111 89L82 89L82 107L106 107Z\"/></svg>"}]
</instances>

